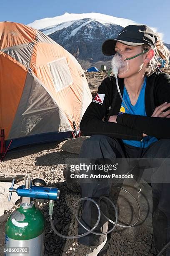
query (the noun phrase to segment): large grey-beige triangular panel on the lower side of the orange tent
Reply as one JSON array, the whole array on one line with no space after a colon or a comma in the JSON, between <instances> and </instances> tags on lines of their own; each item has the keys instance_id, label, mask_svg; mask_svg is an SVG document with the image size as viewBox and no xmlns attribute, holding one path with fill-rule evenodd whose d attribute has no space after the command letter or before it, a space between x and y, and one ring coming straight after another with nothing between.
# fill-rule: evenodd
<instances>
[{"instance_id":1,"label":"large grey-beige triangular panel on the lower side of the orange tent","mask_svg":"<svg viewBox=\"0 0 170 256\"><path fill-rule=\"evenodd\" d=\"M9 138L61 130L70 131L67 119L42 85L28 73Z\"/></svg>"}]
</instances>

